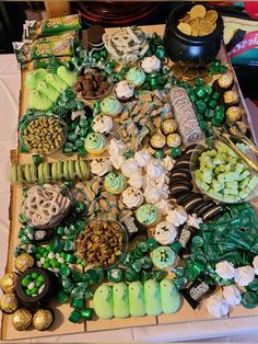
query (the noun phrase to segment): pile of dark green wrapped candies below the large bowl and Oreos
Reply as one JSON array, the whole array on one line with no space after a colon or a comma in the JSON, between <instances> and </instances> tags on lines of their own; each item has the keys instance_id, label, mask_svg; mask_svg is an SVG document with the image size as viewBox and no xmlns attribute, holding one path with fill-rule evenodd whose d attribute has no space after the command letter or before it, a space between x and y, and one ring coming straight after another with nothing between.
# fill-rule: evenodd
<instances>
[{"instance_id":1,"label":"pile of dark green wrapped candies below the large bowl and Oreos","mask_svg":"<svg viewBox=\"0 0 258 344\"><path fill-rule=\"evenodd\" d=\"M231 285L231 279L215 273L215 264L221 261L231 262L235 267L251 265L258 254L258 219L254 208L250 204L226 208L227 213L215 221L200 225L189 248L190 259L184 268L176 268L178 288L200 275L210 285Z\"/></svg>"}]
</instances>

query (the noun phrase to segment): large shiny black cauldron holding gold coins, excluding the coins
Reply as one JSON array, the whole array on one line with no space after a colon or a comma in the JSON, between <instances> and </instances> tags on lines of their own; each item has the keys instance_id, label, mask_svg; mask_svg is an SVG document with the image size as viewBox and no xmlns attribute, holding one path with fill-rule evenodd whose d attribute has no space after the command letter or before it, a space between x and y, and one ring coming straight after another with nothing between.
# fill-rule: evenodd
<instances>
[{"instance_id":1,"label":"large shiny black cauldron holding gold coins, excluding the coins","mask_svg":"<svg viewBox=\"0 0 258 344\"><path fill-rule=\"evenodd\" d=\"M212 7L204 5L212 10ZM223 37L223 20L219 14L215 30L207 36L188 36L178 28L178 20L192 8L192 4L179 5L167 19L164 33L166 55L174 61L189 67L201 67L210 64L218 55Z\"/></svg>"}]
</instances>

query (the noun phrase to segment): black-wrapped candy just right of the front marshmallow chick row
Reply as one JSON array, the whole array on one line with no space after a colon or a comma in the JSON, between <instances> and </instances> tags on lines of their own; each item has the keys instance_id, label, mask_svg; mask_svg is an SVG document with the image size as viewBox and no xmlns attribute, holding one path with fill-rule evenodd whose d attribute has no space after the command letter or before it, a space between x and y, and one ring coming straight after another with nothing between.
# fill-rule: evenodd
<instances>
[{"instance_id":1,"label":"black-wrapped candy just right of the front marshmallow chick row","mask_svg":"<svg viewBox=\"0 0 258 344\"><path fill-rule=\"evenodd\" d=\"M188 301L188 303L196 309L201 299L211 294L215 289L215 286L208 285L204 280L197 278L195 282L187 284L186 288L180 290L180 294Z\"/></svg>"}]
</instances>

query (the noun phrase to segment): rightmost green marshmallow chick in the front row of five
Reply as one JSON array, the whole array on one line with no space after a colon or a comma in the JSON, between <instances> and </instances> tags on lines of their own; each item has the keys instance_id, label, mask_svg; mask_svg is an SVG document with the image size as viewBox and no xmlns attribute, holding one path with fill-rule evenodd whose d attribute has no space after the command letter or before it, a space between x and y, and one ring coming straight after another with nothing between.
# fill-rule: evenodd
<instances>
[{"instance_id":1,"label":"rightmost green marshmallow chick in the front row of five","mask_svg":"<svg viewBox=\"0 0 258 344\"><path fill-rule=\"evenodd\" d=\"M175 313L180 307L180 295L172 279L165 278L160 283L161 305L163 313Z\"/></svg>"}]
</instances>

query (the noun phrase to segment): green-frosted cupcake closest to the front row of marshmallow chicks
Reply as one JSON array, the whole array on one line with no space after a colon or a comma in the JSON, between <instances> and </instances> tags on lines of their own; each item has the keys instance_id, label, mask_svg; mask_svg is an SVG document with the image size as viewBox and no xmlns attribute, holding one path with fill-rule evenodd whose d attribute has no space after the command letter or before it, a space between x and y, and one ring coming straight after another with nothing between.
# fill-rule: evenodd
<instances>
[{"instance_id":1,"label":"green-frosted cupcake closest to the front row of marshmallow chicks","mask_svg":"<svg viewBox=\"0 0 258 344\"><path fill-rule=\"evenodd\" d=\"M151 260L155 267L171 271L177 264L178 256L169 246L160 246L151 252Z\"/></svg>"}]
</instances>

